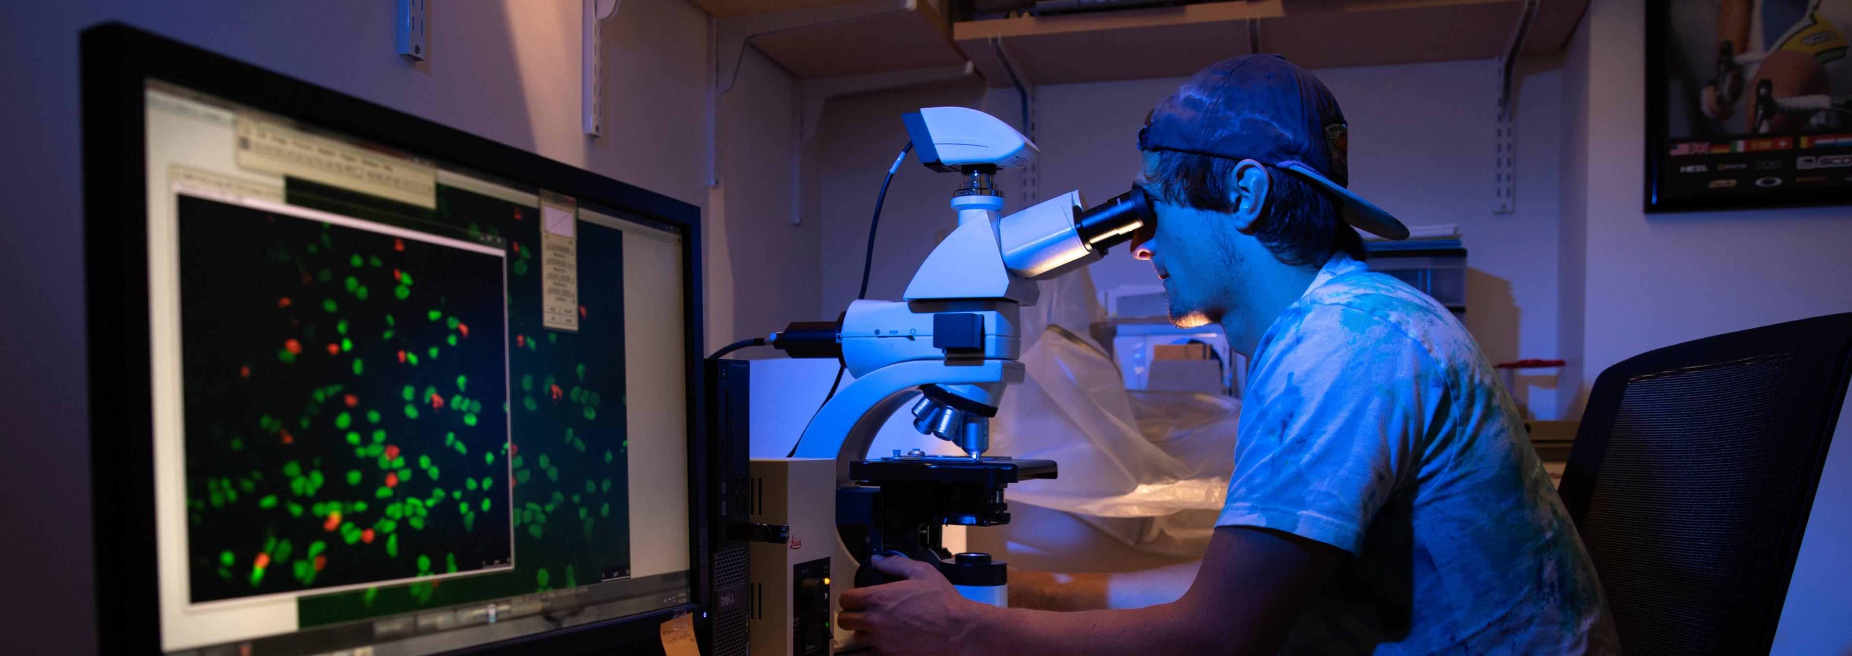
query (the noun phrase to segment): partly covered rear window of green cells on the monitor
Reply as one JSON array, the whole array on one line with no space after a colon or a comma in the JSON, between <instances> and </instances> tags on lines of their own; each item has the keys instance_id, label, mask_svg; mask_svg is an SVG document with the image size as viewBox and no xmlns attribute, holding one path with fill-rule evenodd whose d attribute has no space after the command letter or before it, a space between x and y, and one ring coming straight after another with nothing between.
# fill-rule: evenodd
<instances>
[{"instance_id":1,"label":"partly covered rear window of green cells on the monitor","mask_svg":"<svg viewBox=\"0 0 1852 656\"><path fill-rule=\"evenodd\" d=\"M543 325L537 205L439 185L419 209L289 179L291 205L507 242L515 567L296 599L300 626L544 593L630 577L624 233L578 222L578 333ZM422 279L420 283L422 285Z\"/></svg>"}]
</instances>

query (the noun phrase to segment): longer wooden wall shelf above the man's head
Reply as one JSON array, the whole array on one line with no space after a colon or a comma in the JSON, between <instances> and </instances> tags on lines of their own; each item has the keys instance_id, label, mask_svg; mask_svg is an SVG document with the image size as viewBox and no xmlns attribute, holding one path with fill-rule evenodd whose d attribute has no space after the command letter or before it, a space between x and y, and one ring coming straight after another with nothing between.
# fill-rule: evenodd
<instances>
[{"instance_id":1,"label":"longer wooden wall shelf above the man's head","mask_svg":"<svg viewBox=\"0 0 1852 656\"><path fill-rule=\"evenodd\" d=\"M1587 6L1543 0L1524 54L1559 52ZM1057 85L1182 78L1256 50L1306 68L1495 59L1522 11L1522 0L1209 2L963 20L952 24L952 39L993 87L1009 85L998 50L1033 83Z\"/></svg>"}]
</instances>

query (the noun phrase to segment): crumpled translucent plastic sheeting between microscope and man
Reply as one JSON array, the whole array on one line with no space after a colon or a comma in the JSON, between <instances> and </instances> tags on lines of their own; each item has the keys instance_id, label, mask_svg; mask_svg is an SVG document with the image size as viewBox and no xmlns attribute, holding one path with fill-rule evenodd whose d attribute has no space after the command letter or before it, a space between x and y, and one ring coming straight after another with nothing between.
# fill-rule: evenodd
<instances>
[{"instance_id":1,"label":"crumpled translucent plastic sheeting between microscope and man","mask_svg":"<svg viewBox=\"0 0 1852 656\"><path fill-rule=\"evenodd\" d=\"M1080 281L1061 288L1069 279ZM991 453L1056 460L1061 477L1019 482L1009 503L1070 512L1139 551L1200 554L1228 493L1241 401L1126 390L1113 358L1074 331L1098 316L1091 281L1054 283L1048 325L1020 357L1028 377L991 421Z\"/></svg>"}]
</instances>

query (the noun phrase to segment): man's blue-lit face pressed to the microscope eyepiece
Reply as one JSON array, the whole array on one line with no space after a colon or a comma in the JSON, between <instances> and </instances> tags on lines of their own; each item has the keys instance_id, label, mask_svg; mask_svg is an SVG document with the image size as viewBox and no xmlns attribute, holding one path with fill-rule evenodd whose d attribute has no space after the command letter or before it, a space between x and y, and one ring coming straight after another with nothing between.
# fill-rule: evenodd
<instances>
[{"instance_id":1,"label":"man's blue-lit face pressed to the microscope eyepiece","mask_svg":"<svg viewBox=\"0 0 1852 656\"><path fill-rule=\"evenodd\" d=\"M1233 307L1241 286L1241 259L1232 242L1228 214L1172 205L1152 198L1158 225L1141 229L1132 255L1152 261L1170 301L1170 323L1198 327L1219 323Z\"/></svg>"}]
</instances>

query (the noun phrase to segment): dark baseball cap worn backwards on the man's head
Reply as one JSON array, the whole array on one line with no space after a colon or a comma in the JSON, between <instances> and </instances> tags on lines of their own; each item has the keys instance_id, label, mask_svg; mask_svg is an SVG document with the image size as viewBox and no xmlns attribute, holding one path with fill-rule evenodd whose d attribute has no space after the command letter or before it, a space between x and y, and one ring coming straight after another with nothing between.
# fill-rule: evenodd
<instances>
[{"instance_id":1,"label":"dark baseball cap worn backwards on the man's head","mask_svg":"<svg viewBox=\"0 0 1852 656\"><path fill-rule=\"evenodd\" d=\"M1280 55L1241 55L1202 68L1159 100L1139 150L1254 159L1313 183L1358 229L1408 238L1408 225L1345 188L1350 126L1319 78Z\"/></svg>"}]
</instances>

